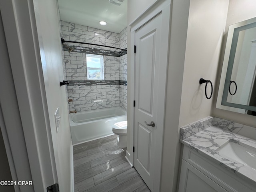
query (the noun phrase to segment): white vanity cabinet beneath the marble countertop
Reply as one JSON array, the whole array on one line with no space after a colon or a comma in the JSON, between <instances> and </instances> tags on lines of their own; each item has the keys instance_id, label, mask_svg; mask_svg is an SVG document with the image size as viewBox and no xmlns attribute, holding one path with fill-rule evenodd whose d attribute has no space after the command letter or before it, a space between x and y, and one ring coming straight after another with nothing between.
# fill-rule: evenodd
<instances>
[{"instance_id":1,"label":"white vanity cabinet beneath the marble countertop","mask_svg":"<svg viewBox=\"0 0 256 192\"><path fill-rule=\"evenodd\" d=\"M184 146L179 192L256 192L256 186Z\"/></svg>"}]
</instances>

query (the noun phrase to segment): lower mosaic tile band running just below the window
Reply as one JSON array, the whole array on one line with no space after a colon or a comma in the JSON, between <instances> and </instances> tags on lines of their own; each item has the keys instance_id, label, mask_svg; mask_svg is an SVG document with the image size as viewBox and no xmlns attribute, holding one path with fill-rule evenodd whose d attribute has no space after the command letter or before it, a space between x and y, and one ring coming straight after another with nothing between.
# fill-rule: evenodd
<instances>
[{"instance_id":1,"label":"lower mosaic tile band running just below the window","mask_svg":"<svg viewBox=\"0 0 256 192\"><path fill-rule=\"evenodd\" d=\"M102 81L92 81L92 80L85 80L85 81L69 81L68 86L80 86L80 85L126 85L127 86L127 81L108 81L108 80L102 80Z\"/></svg>"}]
</instances>

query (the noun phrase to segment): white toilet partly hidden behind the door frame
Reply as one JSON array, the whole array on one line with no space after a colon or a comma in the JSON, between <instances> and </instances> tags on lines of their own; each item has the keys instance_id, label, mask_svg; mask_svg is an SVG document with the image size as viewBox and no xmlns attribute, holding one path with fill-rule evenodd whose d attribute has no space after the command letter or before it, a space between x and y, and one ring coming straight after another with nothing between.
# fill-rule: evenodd
<instances>
[{"instance_id":1,"label":"white toilet partly hidden behind the door frame","mask_svg":"<svg viewBox=\"0 0 256 192\"><path fill-rule=\"evenodd\" d=\"M117 146L126 148L127 146L127 121L120 121L113 125L112 132L117 135Z\"/></svg>"}]
</instances>

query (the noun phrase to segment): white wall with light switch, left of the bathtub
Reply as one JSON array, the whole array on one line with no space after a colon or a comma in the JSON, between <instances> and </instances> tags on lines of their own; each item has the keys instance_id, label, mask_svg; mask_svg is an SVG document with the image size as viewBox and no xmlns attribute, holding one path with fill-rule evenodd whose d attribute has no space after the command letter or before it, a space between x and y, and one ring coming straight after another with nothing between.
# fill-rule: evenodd
<instances>
[{"instance_id":1,"label":"white wall with light switch, left of the bathtub","mask_svg":"<svg viewBox=\"0 0 256 192\"><path fill-rule=\"evenodd\" d=\"M71 136L66 90L65 86L60 87L64 75L57 4L55 0L34 0L34 7L58 183L60 191L68 192L71 188ZM61 116L58 133L54 118L57 108Z\"/></svg>"}]
</instances>

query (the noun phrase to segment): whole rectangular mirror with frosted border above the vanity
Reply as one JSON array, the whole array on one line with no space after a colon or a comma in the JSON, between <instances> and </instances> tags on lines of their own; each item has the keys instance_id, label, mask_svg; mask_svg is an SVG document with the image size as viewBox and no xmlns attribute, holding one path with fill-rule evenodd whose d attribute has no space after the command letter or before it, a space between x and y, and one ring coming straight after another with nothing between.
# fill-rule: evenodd
<instances>
[{"instance_id":1,"label":"whole rectangular mirror with frosted border above the vanity","mask_svg":"<svg viewBox=\"0 0 256 192\"><path fill-rule=\"evenodd\" d=\"M228 29L216 108L256 116L256 18Z\"/></svg>"}]
</instances>

